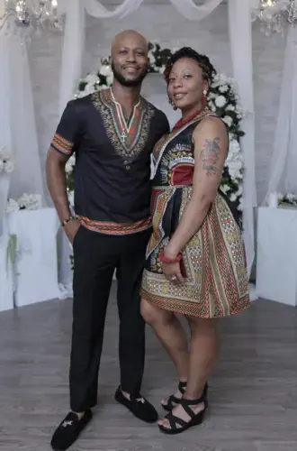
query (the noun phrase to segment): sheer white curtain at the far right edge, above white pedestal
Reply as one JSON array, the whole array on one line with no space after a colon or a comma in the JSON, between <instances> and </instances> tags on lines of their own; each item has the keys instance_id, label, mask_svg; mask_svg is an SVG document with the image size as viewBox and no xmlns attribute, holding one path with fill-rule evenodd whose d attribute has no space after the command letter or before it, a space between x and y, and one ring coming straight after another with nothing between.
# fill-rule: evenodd
<instances>
[{"instance_id":1,"label":"sheer white curtain at the far right edge, above white pedestal","mask_svg":"<svg viewBox=\"0 0 297 451\"><path fill-rule=\"evenodd\" d=\"M284 55L284 76L275 145L271 160L267 202L270 193L297 193L297 27L290 26Z\"/></svg>"}]
</instances>

